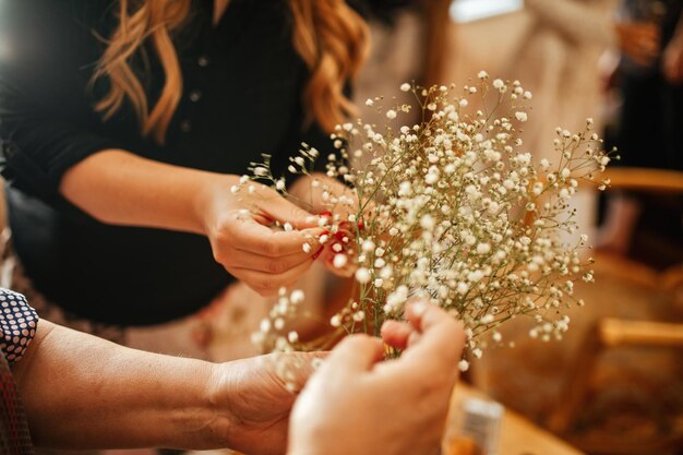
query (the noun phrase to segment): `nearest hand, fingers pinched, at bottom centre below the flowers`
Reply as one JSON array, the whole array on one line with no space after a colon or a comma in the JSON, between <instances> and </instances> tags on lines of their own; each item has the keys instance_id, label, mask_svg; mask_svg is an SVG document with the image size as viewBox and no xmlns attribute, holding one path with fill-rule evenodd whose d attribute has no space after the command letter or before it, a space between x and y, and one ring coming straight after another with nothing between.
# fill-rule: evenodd
<instances>
[{"instance_id":1,"label":"nearest hand, fingers pinched, at bottom centre below the flowers","mask_svg":"<svg viewBox=\"0 0 683 455\"><path fill-rule=\"evenodd\" d=\"M382 330L387 344L406 348L398 360L381 362L382 342L364 335L332 351L295 405L289 455L439 453L463 325L424 302L407 318Z\"/></svg>"}]
</instances>

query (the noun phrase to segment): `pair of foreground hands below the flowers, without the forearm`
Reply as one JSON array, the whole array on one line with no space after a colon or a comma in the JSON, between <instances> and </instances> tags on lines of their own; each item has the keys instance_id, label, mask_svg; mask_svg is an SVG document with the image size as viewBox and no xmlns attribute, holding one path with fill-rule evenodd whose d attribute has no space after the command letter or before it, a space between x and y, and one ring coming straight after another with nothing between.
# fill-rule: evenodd
<instances>
[{"instance_id":1,"label":"pair of foreground hands below the flowers, without the forearm","mask_svg":"<svg viewBox=\"0 0 683 455\"><path fill-rule=\"evenodd\" d=\"M406 316L407 322L382 327L384 343L405 349L399 359L382 361L380 339L349 336L298 398L269 356L219 366L213 390L216 403L227 404L232 416L228 441L233 448L283 454L287 447L289 455L439 453L464 331L423 302L410 304ZM305 360L298 379L303 384L316 355L296 356Z\"/></svg>"}]
</instances>

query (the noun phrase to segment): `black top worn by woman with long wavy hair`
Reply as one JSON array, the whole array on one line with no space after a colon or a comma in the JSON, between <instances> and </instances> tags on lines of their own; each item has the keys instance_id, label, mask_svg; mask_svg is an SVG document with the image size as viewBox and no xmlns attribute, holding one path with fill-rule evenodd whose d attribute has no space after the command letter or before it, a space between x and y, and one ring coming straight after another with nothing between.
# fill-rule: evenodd
<instances>
[{"instance_id":1,"label":"black top worn by woman with long wavy hair","mask_svg":"<svg viewBox=\"0 0 683 455\"><path fill-rule=\"evenodd\" d=\"M106 148L237 175L261 153L280 171L301 141L328 151L326 134L302 128L307 69L291 45L287 3L232 0L213 27L213 2L192 2L173 37L184 92L158 146L141 136L130 106L106 122L93 110L107 82L88 89L88 81L101 37L116 26L116 2L0 2L2 173L14 248L39 291L82 318L144 325L190 314L233 280L206 238L104 225L58 185L70 166ZM153 106L164 76L146 53L147 71L142 58L136 70Z\"/></svg>"}]
</instances>

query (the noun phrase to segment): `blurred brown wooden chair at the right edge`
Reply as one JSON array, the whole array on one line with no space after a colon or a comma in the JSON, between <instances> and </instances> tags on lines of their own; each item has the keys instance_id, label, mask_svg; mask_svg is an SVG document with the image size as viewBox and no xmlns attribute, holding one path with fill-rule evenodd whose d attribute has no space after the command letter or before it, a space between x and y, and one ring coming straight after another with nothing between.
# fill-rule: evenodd
<instances>
[{"instance_id":1,"label":"blurred brown wooden chair at the right edge","mask_svg":"<svg viewBox=\"0 0 683 455\"><path fill-rule=\"evenodd\" d=\"M611 179L612 190L683 195L683 172L679 171L615 168L609 170L608 177ZM683 310L683 258L680 264L660 272L624 256L606 255L599 252L595 256L598 263L610 264L608 267L610 273L621 275L623 279L638 280L639 285L666 296L674 311ZM584 338L583 346L578 349L563 392L560 394L562 405L555 407L548 420L548 427L590 453L666 453L667 450L682 447L681 434L642 443L610 441L603 435L597 438L594 435L585 440L572 438L571 430L586 405L590 392L590 380L600 363L601 356L610 349L621 347L683 348L683 322L633 321L613 318L596 321Z\"/></svg>"}]
</instances>

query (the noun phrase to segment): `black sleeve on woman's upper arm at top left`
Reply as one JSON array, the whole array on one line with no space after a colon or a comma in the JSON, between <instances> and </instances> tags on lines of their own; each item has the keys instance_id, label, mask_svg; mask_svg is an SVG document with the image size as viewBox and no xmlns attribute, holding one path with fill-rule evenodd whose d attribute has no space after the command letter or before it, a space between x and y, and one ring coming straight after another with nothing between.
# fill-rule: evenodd
<instances>
[{"instance_id":1,"label":"black sleeve on woman's upper arm at top left","mask_svg":"<svg viewBox=\"0 0 683 455\"><path fill-rule=\"evenodd\" d=\"M0 2L0 170L48 202L71 166L121 147L97 133L87 91L96 38L73 14L79 3Z\"/></svg>"}]
</instances>

